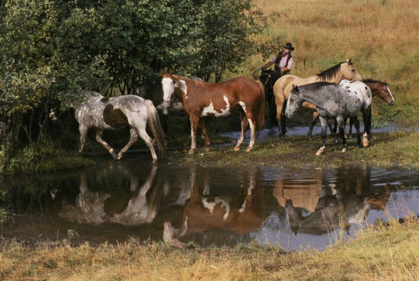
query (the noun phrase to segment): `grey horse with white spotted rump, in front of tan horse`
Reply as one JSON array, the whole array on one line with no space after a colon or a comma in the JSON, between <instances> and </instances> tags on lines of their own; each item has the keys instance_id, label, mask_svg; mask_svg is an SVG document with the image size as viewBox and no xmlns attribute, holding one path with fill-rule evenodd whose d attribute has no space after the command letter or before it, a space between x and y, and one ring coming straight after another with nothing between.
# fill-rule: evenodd
<instances>
[{"instance_id":1,"label":"grey horse with white spotted rump, in front of tan horse","mask_svg":"<svg viewBox=\"0 0 419 281\"><path fill-rule=\"evenodd\" d=\"M351 90L347 84L355 84ZM317 82L304 86L293 85L290 97L288 98L285 115L292 118L298 108L306 101L317 108L322 125L322 146L316 155L322 154L325 149L327 123L329 120L337 121L339 133L342 137L342 152L347 150L345 135L345 118L353 118L362 111L364 120L368 120L371 111L371 90L362 82L347 81L343 87L328 82ZM347 88L348 87L348 88ZM358 145L361 146L361 135L359 133L358 119L354 120L357 129ZM367 122L368 123L368 122ZM368 145L368 128L364 132L364 146Z\"/></svg>"}]
</instances>

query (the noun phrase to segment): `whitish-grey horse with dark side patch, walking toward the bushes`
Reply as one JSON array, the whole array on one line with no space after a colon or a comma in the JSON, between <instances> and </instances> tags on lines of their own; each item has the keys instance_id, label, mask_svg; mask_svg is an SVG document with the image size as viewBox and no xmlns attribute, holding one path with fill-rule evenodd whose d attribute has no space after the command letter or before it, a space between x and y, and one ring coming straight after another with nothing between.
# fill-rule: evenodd
<instances>
[{"instance_id":1,"label":"whitish-grey horse with dark side patch, walking toward the bushes","mask_svg":"<svg viewBox=\"0 0 419 281\"><path fill-rule=\"evenodd\" d=\"M64 94L60 92L59 96ZM64 109L75 109L75 117L79 123L80 131L79 153L83 151L87 131L90 128L96 128L96 140L109 151L115 160L120 160L122 155L140 136L149 147L153 162L156 162L157 155L152 140L146 132L148 122L157 142L160 156L164 158L166 153L165 135L152 101L134 95L105 98L101 94L92 91L81 91L80 95L84 101L75 103L64 98L61 104ZM57 119L55 109L51 111L50 118L52 120ZM104 130L116 130L127 125L131 127L130 140L116 155L114 149L102 139L102 133Z\"/></svg>"}]
</instances>

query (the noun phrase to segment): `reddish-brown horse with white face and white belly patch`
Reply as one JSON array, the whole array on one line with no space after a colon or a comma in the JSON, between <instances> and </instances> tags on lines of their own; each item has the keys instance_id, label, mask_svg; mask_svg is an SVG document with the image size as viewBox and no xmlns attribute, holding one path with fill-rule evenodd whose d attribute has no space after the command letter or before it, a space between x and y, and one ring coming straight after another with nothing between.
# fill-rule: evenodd
<instances>
[{"instance_id":1,"label":"reddish-brown horse with white face and white belly patch","mask_svg":"<svg viewBox=\"0 0 419 281\"><path fill-rule=\"evenodd\" d=\"M169 73L162 75L163 99L169 101L172 94L182 102L191 121L191 149L193 154L196 149L196 134L198 125L202 129L205 145L210 146L206 133L205 122L201 117L224 117L234 110L240 111L241 135L235 151L240 149L247 125L250 124L251 137L246 152L252 150L255 143L255 131L264 123L265 90L260 82L245 77L238 77L219 84L196 81Z\"/></svg>"}]
</instances>

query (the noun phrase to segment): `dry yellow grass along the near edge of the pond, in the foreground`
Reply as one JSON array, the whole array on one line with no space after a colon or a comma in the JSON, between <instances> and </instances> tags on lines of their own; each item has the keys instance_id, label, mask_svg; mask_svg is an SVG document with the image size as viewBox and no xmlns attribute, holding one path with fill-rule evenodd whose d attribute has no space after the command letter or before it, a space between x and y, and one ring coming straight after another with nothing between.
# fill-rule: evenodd
<instances>
[{"instance_id":1,"label":"dry yellow grass along the near edge of the pond, in the foreground","mask_svg":"<svg viewBox=\"0 0 419 281\"><path fill-rule=\"evenodd\" d=\"M182 250L132 240L71 247L3 244L2 280L418 280L419 224L371 226L323 252L257 244Z\"/></svg>"}]
</instances>

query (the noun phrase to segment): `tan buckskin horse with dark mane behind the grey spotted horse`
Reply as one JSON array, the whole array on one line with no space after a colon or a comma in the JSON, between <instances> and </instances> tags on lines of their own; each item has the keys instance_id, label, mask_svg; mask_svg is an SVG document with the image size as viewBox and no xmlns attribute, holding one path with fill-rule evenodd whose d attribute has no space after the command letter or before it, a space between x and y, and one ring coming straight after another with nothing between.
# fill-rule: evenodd
<instances>
[{"instance_id":1,"label":"tan buckskin horse with dark mane behind the grey spotted horse","mask_svg":"<svg viewBox=\"0 0 419 281\"><path fill-rule=\"evenodd\" d=\"M284 75L276 81L274 85L274 95L276 103L276 112L279 126L279 135L284 137L286 133L286 120L285 120L285 100L288 99L292 85L302 86L314 82L334 82L339 83L342 79L347 79L351 81L361 81L362 78L353 65L352 61L346 60L341 62L319 74L307 77L300 78L296 75ZM303 103L303 108L316 109L313 104L308 102ZM309 135L311 132L309 132Z\"/></svg>"}]
</instances>

